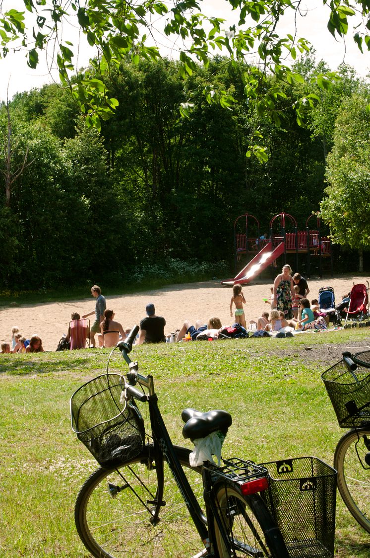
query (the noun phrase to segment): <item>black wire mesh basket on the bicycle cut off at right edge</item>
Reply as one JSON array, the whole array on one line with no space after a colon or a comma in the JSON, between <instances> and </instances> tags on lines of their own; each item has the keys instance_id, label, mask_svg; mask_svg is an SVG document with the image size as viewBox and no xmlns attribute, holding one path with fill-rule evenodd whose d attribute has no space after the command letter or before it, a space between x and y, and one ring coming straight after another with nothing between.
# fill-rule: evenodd
<instances>
[{"instance_id":1,"label":"black wire mesh basket on the bicycle cut off at right edge","mask_svg":"<svg viewBox=\"0 0 370 558\"><path fill-rule=\"evenodd\" d=\"M364 426L370 422L370 351L352 355L356 369L340 360L322 374L330 401L341 428Z\"/></svg>"}]
</instances>

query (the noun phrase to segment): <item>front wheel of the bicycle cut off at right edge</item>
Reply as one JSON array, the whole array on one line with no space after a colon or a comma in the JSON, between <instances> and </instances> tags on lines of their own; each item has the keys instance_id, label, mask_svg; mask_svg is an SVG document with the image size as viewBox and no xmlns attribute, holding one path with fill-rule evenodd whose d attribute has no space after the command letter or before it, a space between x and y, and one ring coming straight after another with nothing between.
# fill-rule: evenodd
<instances>
[{"instance_id":1,"label":"front wheel of the bicycle cut off at right edge","mask_svg":"<svg viewBox=\"0 0 370 558\"><path fill-rule=\"evenodd\" d=\"M338 471L338 489L345 505L356 521L370 533L370 469L364 469L357 450L364 459L369 450L362 436L370 439L370 426L349 430L340 438L334 453L334 468Z\"/></svg>"}]
</instances>

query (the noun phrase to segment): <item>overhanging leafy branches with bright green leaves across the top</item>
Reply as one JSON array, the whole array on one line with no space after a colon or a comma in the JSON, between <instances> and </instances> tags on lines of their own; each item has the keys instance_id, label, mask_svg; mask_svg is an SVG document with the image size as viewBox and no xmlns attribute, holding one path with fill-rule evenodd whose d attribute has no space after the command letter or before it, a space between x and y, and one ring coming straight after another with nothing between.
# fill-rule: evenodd
<instances>
[{"instance_id":1,"label":"overhanging leafy branches with bright green leaves across the top","mask_svg":"<svg viewBox=\"0 0 370 558\"><path fill-rule=\"evenodd\" d=\"M245 63L243 75L244 95L257 112L269 115L280 122L279 102L285 97L281 84L294 84L303 80L287 59L295 60L297 54L309 50L309 43L296 35L295 28L285 36L278 33L278 24L289 12L298 12L302 0L225 0L237 14L237 25L223 27L220 18L207 16L202 0L87 0L62 2L62 0L22 0L32 15L31 26L25 24L25 13L11 8L6 2L0 6L0 45L2 55L12 49L25 49L28 65L36 68L42 51L53 52L62 84L69 86L80 108L86 113L87 125L100 129L101 121L108 119L118 106L102 79L108 68L118 66L130 56L134 64L140 60L157 60L160 57L155 43L155 33L176 37L179 50L179 74L191 76L196 62L207 68L215 52L229 56L232 63ZM353 40L361 51L370 48L369 0L322 0L328 8L328 32L343 37L349 29L349 20L356 20ZM62 30L66 21L79 26L89 45L96 47L96 57L90 67L74 75L77 45L65 40ZM276 80L269 80L269 75ZM317 76L320 86L327 86L330 75ZM214 84L202 84L208 102L218 102L230 107L233 97ZM193 105L189 95L181 104L181 111L188 115ZM299 123L303 122L308 107L317 102L317 95L309 94L296 99L295 110ZM257 153L258 150L257 150Z\"/></svg>"}]
</instances>

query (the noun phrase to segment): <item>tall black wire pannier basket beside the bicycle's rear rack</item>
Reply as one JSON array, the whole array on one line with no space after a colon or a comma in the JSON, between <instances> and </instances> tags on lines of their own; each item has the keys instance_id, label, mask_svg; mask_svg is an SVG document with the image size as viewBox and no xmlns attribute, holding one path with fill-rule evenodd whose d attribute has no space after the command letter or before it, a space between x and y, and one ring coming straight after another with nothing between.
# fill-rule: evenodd
<instances>
[{"instance_id":1,"label":"tall black wire pannier basket beside the bicycle's rear rack","mask_svg":"<svg viewBox=\"0 0 370 558\"><path fill-rule=\"evenodd\" d=\"M289 558L333 558L337 471L315 457L262 463L261 493L283 534Z\"/></svg>"}]
</instances>

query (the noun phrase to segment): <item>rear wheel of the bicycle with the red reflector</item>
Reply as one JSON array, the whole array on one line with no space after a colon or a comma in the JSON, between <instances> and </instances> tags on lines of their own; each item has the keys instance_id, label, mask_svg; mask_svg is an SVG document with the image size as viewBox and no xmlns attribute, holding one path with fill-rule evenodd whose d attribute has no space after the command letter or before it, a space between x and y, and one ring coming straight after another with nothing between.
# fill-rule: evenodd
<instances>
[{"instance_id":1,"label":"rear wheel of the bicycle with the red reflector","mask_svg":"<svg viewBox=\"0 0 370 558\"><path fill-rule=\"evenodd\" d=\"M227 537L226 544L215 518L215 544L220 558L288 558L283 535L258 494L243 496L237 485L222 482L215 506Z\"/></svg>"}]
</instances>

